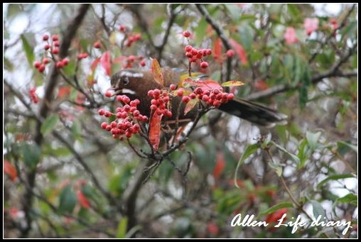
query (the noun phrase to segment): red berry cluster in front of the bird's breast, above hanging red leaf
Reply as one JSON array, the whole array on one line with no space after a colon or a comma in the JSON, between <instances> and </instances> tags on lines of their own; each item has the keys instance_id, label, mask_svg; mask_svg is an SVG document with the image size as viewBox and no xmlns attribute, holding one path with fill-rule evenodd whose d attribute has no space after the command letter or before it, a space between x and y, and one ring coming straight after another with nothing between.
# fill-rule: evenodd
<instances>
[{"instance_id":1,"label":"red berry cluster in front of the bird's breast, above hanging red leaf","mask_svg":"<svg viewBox=\"0 0 361 242\"><path fill-rule=\"evenodd\" d=\"M148 96L151 97L151 111L154 113L171 118L173 115L169 109L167 109L168 102L171 99L168 96L168 92L166 90L153 89L149 90Z\"/></svg>"}]
</instances>

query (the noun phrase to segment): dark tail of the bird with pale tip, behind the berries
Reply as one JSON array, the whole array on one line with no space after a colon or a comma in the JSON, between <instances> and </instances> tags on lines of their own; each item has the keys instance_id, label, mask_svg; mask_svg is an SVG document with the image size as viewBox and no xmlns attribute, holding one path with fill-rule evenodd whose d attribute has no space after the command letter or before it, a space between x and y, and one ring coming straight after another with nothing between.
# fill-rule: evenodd
<instances>
[{"instance_id":1,"label":"dark tail of the bird with pale tip, behind the berries","mask_svg":"<svg viewBox=\"0 0 361 242\"><path fill-rule=\"evenodd\" d=\"M260 126L273 127L276 124L287 123L286 114L244 99L233 99L222 104L218 109Z\"/></svg>"}]
</instances>

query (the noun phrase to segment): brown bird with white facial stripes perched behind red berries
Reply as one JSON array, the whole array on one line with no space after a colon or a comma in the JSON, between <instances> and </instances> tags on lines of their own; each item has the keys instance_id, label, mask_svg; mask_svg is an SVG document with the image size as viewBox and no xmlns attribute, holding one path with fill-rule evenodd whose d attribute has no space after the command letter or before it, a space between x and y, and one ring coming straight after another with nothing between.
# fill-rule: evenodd
<instances>
[{"instance_id":1,"label":"brown bird with white facial stripes perched behind red berries","mask_svg":"<svg viewBox=\"0 0 361 242\"><path fill-rule=\"evenodd\" d=\"M113 89L115 93L126 94L131 100L139 99L139 111L141 114L149 117L151 115L151 97L148 96L149 90L164 89L171 84L178 85L181 82L182 74L184 74L184 72L178 69L162 68L163 85L161 85L154 80L151 70L127 68L112 75L110 84L112 86L111 89ZM205 75L200 75L200 78L204 77ZM180 97L173 97L171 99L171 106L178 106L180 102ZM179 116L176 116L176 114L174 114L175 112L173 112L173 116L170 119L177 119L177 117L185 121L195 119L198 112L197 106L187 114L184 114L184 109L185 104L181 104L181 113ZM217 109L259 126L266 126L267 128L271 128L276 124L285 124L287 119L286 114L281 114L262 104L236 97L227 103L221 104Z\"/></svg>"}]
</instances>

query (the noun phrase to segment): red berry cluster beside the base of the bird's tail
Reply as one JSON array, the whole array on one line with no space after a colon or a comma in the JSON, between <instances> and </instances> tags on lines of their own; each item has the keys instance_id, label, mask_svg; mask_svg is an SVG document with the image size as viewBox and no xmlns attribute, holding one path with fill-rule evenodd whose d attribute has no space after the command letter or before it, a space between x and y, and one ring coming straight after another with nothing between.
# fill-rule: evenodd
<instances>
[{"instance_id":1,"label":"red berry cluster beside the base of the bird's tail","mask_svg":"<svg viewBox=\"0 0 361 242\"><path fill-rule=\"evenodd\" d=\"M182 97L182 101L186 104L190 99L195 99L196 97L200 100L205 101L209 106L215 106L216 108L220 104L225 104L227 101L231 101L235 96L232 93L223 92L222 89L202 89L197 87L194 91L186 96L183 96L183 90L178 89L178 97Z\"/></svg>"}]
</instances>

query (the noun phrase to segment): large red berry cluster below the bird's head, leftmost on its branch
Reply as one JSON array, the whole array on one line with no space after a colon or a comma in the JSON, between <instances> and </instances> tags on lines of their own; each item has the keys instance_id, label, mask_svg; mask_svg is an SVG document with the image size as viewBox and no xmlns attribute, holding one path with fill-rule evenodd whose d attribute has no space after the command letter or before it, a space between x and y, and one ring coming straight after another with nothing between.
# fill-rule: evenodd
<instances>
[{"instance_id":1,"label":"large red berry cluster below the bird's head, leftmost on its branch","mask_svg":"<svg viewBox=\"0 0 361 242\"><path fill-rule=\"evenodd\" d=\"M117 96L117 101L122 102L123 106L117 107L115 114L104 109L99 109L98 114L107 118L110 116L116 117L111 123L103 122L101 127L112 133L113 138L119 138L120 141L123 141L124 136L131 138L134 134L139 133L141 130L139 123L148 121L148 118L141 115L136 108L140 104L138 99L130 101L129 97L121 95Z\"/></svg>"}]
</instances>

